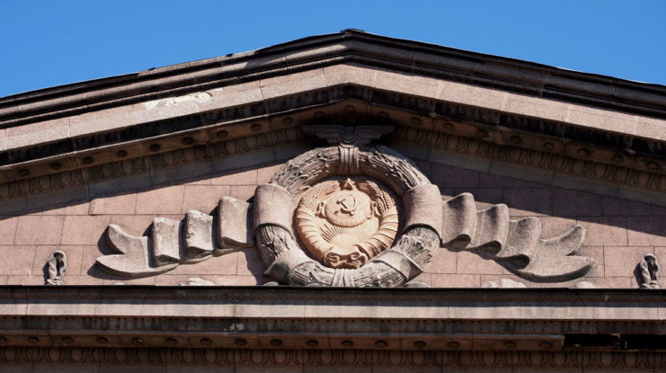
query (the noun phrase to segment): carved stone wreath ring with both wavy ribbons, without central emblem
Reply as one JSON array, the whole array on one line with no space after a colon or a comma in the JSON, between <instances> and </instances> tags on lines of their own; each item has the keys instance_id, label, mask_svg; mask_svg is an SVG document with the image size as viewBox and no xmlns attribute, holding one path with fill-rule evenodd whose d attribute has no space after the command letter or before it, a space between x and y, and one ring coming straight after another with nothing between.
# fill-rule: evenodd
<instances>
[{"instance_id":1,"label":"carved stone wreath ring with both wavy ribbons, without central emblem","mask_svg":"<svg viewBox=\"0 0 666 373\"><path fill-rule=\"evenodd\" d=\"M362 267L334 270L307 256L297 244L292 231L294 201L326 177L356 173L384 182L402 197L404 229L393 246ZM530 280L571 280L595 265L590 258L574 255L584 238L582 226L543 239L537 218L511 220L506 205L477 210L469 193L442 201L437 186L387 147L308 151L257 187L254 205L225 197L217 217L189 211L184 221L155 218L151 231L151 237L134 237L109 226L107 238L118 254L97 262L121 276L150 276L253 247L256 235L266 274L291 285L402 286L423 271L440 244L475 250Z\"/></svg>"}]
</instances>

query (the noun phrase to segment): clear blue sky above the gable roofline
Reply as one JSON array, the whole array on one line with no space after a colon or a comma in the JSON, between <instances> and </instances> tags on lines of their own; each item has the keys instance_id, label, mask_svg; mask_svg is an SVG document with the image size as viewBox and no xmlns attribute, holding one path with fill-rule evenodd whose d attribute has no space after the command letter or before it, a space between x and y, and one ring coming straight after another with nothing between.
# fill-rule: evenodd
<instances>
[{"instance_id":1,"label":"clear blue sky above the gable roofline","mask_svg":"<svg viewBox=\"0 0 666 373\"><path fill-rule=\"evenodd\" d=\"M662 0L0 0L0 97L348 28L666 84Z\"/></svg>"}]
</instances>

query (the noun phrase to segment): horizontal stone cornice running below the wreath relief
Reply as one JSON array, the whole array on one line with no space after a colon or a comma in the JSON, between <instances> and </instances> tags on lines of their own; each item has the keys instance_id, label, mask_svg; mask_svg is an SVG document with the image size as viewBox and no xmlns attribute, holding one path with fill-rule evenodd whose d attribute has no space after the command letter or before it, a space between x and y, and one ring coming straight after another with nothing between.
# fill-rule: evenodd
<instances>
[{"instance_id":1,"label":"horizontal stone cornice running below the wreath relief","mask_svg":"<svg viewBox=\"0 0 666 373\"><path fill-rule=\"evenodd\" d=\"M390 355L393 365L663 367L645 359L666 348L664 300L663 290L621 289L4 286L0 361L122 362L159 349L172 362L203 353L200 364L226 365L284 354L296 359L284 365L346 365L310 360L355 354L361 365ZM228 354L249 360L223 362Z\"/></svg>"}]
</instances>

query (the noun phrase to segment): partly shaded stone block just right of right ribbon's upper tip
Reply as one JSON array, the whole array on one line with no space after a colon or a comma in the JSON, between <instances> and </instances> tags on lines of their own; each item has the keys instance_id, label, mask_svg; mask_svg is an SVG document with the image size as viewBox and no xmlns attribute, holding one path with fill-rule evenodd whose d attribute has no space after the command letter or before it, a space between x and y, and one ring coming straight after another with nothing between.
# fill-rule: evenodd
<instances>
[{"instance_id":1,"label":"partly shaded stone block just right of right ribbon's upper tip","mask_svg":"<svg viewBox=\"0 0 666 373\"><path fill-rule=\"evenodd\" d=\"M626 218L583 217L578 224L585 228L585 241L590 246L626 246Z\"/></svg>"}]
</instances>

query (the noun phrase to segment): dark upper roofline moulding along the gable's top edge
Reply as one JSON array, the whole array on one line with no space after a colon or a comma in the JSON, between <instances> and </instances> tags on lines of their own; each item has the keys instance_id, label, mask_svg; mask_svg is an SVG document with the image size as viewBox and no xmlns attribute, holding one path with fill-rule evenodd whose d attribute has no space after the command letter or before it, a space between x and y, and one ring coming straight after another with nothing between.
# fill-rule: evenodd
<instances>
[{"instance_id":1,"label":"dark upper roofline moulding along the gable's top edge","mask_svg":"<svg viewBox=\"0 0 666 373\"><path fill-rule=\"evenodd\" d=\"M666 118L666 87L662 85L342 31L252 52L7 96L0 99L0 125L6 128L78 115L343 63Z\"/></svg>"}]
</instances>

